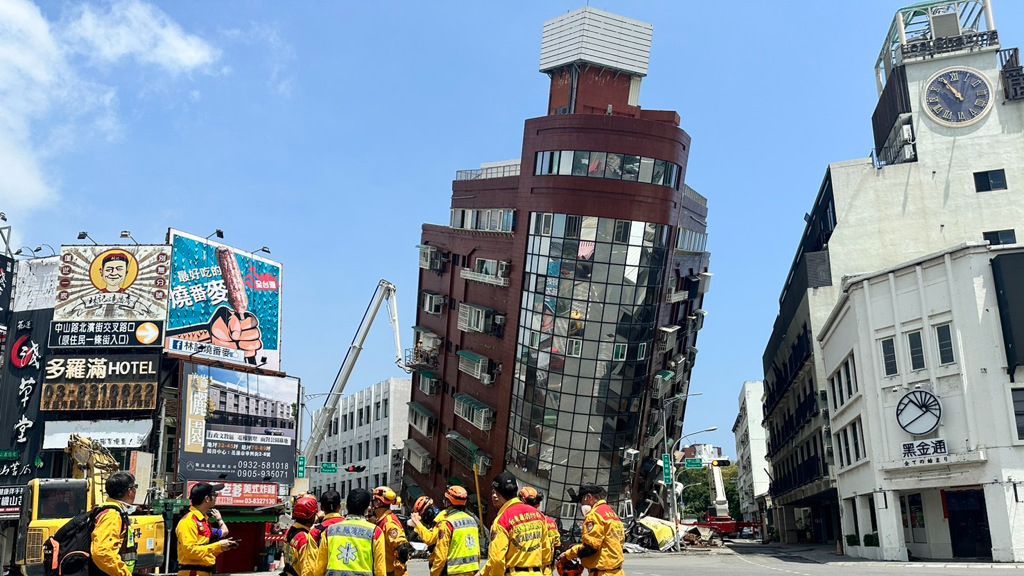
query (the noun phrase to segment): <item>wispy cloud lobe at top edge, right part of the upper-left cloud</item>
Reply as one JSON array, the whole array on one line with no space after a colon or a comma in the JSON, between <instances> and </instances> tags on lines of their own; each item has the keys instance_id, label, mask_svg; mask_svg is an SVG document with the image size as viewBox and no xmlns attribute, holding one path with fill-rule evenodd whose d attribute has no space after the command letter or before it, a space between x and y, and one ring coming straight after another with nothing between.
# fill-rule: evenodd
<instances>
[{"instance_id":1,"label":"wispy cloud lobe at top edge, right part of the upper-left cloud","mask_svg":"<svg viewBox=\"0 0 1024 576\"><path fill-rule=\"evenodd\" d=\"M209 69L220 57L215 47L186 33L160 8L138 0L114 2L102 11L82 5L63 35L70 49L95 61L133 58L172 74Z\"/></svg>"}]
</instances>

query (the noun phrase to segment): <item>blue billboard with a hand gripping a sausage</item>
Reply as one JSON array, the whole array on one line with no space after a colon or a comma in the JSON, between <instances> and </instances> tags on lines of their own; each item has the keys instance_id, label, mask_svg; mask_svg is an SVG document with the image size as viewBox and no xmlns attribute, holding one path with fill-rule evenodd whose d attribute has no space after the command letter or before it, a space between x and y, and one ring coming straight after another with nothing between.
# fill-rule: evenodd
<instances>
[{"instance_id":1,"label":"blue billboard with a hand gripping a sausage","mask_svg":"<svg viewBox=\"0 0 1024 576\"><path fill-rule=\"evenodd\" d=\"M165 348L281 371L281 264L176 230L168 242Z\"/></svg>"}]
</instances>

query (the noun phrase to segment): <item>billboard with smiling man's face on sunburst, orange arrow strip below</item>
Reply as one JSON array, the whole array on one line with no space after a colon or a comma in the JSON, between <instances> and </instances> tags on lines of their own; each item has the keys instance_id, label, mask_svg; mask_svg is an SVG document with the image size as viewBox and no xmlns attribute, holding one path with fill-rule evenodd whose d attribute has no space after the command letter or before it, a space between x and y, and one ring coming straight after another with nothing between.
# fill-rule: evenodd
<instances>
[{"instance_id":1,"label":"billboard with smiling man's face on sunburst, orange arrow strip below","mask_svg":"<svg viewBox=\"0 0 1024 576\"><path fill-rule=\"evenodd\" d=\"M63 246L50 347L160 346L168 246Z\"/></svg>"}]
</instances>

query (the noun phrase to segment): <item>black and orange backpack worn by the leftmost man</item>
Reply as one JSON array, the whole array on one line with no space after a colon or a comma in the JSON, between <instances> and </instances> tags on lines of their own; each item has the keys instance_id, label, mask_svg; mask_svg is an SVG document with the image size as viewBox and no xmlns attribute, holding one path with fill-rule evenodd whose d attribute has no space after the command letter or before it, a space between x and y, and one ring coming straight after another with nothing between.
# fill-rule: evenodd
<instances>
[{"instance_id":1,"label":"black and orange backpack worn by the leftmost man","mask_svg":"<svg viewBox=\"0 0 1024 576\"><path fill-rule=\"evenodd\" d=\"M131 526L131 519L117 504L103 504L76 516L43 543L45 576L88 576L93 572L92 530L99 515L110 509L121 515L122 533Z\"/></svg>"}]
</instances>

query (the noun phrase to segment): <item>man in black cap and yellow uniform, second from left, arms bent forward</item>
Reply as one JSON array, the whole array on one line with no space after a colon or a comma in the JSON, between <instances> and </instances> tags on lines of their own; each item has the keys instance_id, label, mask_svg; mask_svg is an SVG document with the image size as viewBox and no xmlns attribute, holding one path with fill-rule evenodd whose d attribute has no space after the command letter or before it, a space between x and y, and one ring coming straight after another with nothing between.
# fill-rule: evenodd
<instances>
[{"instance_id":1,"label":"man in black cap and yellow uniform, second from left, arms bent forward","mask_svg":"<svg viewBox=\"0 0 1024 576\"><path fill-rule=\"evenodd\" d=\"M226 530L222 522L217 521L220 527L210 526L210 519L220 518L213 507L217 492L223 489L223 484L201 482L188 492L191 507L174 530L178 537L178 576L212 576L217 557L239 546L233 539L223 538Z\"/></svg>"}]
</instances>

